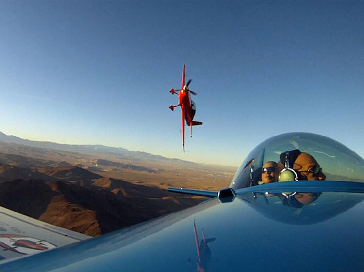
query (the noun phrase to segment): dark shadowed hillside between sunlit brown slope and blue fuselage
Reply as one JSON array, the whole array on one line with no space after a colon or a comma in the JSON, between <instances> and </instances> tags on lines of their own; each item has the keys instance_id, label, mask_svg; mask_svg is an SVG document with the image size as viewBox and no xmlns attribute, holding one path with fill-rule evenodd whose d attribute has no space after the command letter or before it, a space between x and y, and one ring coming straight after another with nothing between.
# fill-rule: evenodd
<instances>
[{"instance_id":1,"label":"dark shadowed hillside between sunlit brown slope and blue fuselage","mask_svg":"<svg viewBox=\"0 0 364 272\"><path fill-rule=\"evenodd\" d=\"M115 189L129 192L129 197L123 194L115 194L110 191L110 188L83 187L64 181L57 181L57 188L68 202L96 212L101 233L128 227L191 207L203 200L186 196L176 199L170 196L172 194L167 190L138 186L127 181L117 181L117 188ZM130 197L132 194L131 188L133 188L133 193L138 193L138 195ZM152 189L152 194L150 194L150 189Z\"/></svg>"}]
</instances>

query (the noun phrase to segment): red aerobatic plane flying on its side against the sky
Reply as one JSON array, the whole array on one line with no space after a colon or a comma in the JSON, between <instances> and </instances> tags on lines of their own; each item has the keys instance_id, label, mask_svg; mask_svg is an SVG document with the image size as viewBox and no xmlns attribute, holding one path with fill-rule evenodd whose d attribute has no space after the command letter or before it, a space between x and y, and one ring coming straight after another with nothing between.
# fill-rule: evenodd
<instances>
[{"instance_id":1,"label":"red aerobatic plane flying on its side against the sky","mask_svg":"<svg viewBox=\"0 0 364 272\"><path fill-rule=\"evenodd\" d=\"M178 98L180 103L176 106L169 106L171 110L173 110L177 106L181 106L182 110L182 144L183 144L183 151L184 151L184 121L188 126L190 126L190 135L192 137L192 126L202 125L202 122L193 121L193 117L196 113L196 104L192 101L190 97L190 93L193 95L197 95L197 93L191 91L188 88L188 85L191 83L192 79L190 79L186 85L184 85L184 70L185 65L183 64L183 74L182 74L182 89L178 93ZM170 93L175 94L176 91L172 88Z\"/></svg>"}]
</instances>

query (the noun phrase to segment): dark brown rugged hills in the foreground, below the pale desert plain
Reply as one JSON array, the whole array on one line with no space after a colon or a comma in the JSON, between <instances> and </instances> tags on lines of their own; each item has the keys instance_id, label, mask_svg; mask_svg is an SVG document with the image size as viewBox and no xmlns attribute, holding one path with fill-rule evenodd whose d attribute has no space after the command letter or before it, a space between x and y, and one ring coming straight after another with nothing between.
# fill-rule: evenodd
<instances>
[{"instance_id":1,"label":"dark brown rugged hills in the foreground, below the pale desert plain","mask_svg":"<svg viewBox=\"0 0 364 272\"><path fill-rule=\"evenodd\" d=\"M1 206L91 236L178 211L202 200L102 177L76 166L38 171L2 165L0 180Z\"/></svg>"}]
</instances>

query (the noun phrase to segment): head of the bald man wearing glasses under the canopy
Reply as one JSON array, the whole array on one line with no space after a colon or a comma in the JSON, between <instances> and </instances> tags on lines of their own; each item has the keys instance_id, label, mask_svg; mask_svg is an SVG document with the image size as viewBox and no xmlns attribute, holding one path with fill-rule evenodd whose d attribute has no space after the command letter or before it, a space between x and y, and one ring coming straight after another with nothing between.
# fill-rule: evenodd
<instances>
[{"instance_id":1,"label":"head of the bald man wearing glasses under the canopy","mask_svg":"<svg viewBox=\"0 0 364 272\"><path fill-rule=\"evenodd\" d=\"M293 169L297 170L300 174L300 180L325 180L326 176L322 173L320 165L317 161L309 154L301 153L295 163Z\"/></svg>"}]
</instances>

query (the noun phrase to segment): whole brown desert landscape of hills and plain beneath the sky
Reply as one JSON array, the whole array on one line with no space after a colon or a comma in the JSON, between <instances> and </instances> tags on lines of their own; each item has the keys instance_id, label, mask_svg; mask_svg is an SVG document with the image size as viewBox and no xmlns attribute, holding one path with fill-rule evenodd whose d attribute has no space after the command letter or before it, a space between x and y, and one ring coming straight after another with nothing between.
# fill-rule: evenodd
<instances>
[{"instance_id":1,"label":"whole brown desert landscape of hills and plain beneath the sky","mask_svg":"<svg viewBox=\"0 0 364 272\"><path fill-rule=\"evenodd\" d=\"M166 188L218 190L229 185L235 170L0 132L0 205L91 236L196 205L205 198Z\"/></svg>"}]
</instances>

